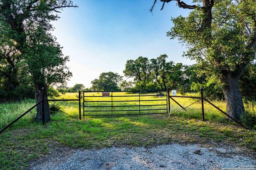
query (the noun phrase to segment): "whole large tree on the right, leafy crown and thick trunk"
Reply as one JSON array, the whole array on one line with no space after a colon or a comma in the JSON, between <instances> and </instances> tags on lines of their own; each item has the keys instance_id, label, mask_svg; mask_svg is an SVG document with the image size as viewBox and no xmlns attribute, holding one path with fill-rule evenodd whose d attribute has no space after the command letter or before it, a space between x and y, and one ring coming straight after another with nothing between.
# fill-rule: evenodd
<instances>
[{"instance_id":1,"label":"whole large tree on the right, leafy crown and thick trunk","mask_svg":"<svg viewBox=\"0 0 256 170\"><path fill-rule=\"evenodd\" d=\"M161 1L164 7L165 3L174 0ZM187 46L188 51L184 56L196 60L202 72L218 77L224 84L227 113L239 119L244 112L244 105L238 80L255 59L256 1L175 2L180 8L192 11L187 17L172 18L174 27L167 35Z\"/></svg>"}]
</instances>

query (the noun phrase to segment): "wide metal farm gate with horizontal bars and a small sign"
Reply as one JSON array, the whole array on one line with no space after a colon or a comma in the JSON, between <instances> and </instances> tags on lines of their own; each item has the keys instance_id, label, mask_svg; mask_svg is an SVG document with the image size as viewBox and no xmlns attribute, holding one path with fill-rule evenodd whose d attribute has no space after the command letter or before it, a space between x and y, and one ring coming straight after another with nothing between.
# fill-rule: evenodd
<instances>
[{"instance_id":1,"label":"wide metal farm gate with horizontal bars and a small sign","mask_svg":"<svg viewBox=\"0 0 256 170\"><path fill-rule=\"evenodd\" d=\"M168 113L167 90L84 91L83 115Z\"/></svg>"}]
</instances>

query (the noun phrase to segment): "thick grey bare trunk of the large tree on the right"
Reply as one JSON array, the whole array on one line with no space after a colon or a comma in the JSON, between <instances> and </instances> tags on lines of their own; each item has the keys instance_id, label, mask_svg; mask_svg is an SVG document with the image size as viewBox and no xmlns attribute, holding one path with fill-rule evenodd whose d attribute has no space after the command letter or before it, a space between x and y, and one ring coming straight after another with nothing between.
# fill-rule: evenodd
<instances>
[{"instance_id":1,"label":"thick grey bare trunk of the large tree on the right","mask_svg":"<svg viewBox=\"0 0 256 170\"><path fill-rule=\"evenodd\" d=\"M234 119L240 119L241 114L244 112L242 95L238 88L238 79L239 76L232 74L226 74L222 79L225 83L223 94L226 101L227 113Z\"/></svg>"}]
</instances>

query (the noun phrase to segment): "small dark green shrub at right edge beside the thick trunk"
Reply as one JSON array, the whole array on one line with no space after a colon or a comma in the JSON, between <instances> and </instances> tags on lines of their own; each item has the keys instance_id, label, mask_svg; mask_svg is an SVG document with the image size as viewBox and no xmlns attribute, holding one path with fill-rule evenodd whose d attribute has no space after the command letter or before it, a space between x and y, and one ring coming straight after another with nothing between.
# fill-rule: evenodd
<instances>
[{"instance_id":1,"label":"small dark green shrub at right edge beside the thick trunk","mask_svg":"<svg viewBox=\"0 0 256 170\"><path fill-rule=\"evenodd\" d=\"M256 129L256 114L254 112L245 111L240 120L246 127Z\"/></svg>"}]
</instances>

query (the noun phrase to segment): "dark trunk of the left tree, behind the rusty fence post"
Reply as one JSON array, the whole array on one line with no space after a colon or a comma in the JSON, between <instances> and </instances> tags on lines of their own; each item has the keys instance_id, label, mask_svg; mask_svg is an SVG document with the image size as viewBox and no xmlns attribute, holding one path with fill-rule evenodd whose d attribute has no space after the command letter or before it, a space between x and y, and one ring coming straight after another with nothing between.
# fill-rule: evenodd
<instances>
[{"instance_id":1,"label":"dark trunk of the left tree, behind the rusty fence post","mask_svg":"<svg viewBox=\"0 0 256 170\"><path fill-rule=\"evenodd\" d=\"M44 85L42 84L36 84L35 85L35 98L36 98L36 103L40 102L42 100L42 87ZM47 94L46 94L46 89L44 90L44 100L47 100ZM36 107L36 121L42 121L42 103L39 104ZM44 116L45 116L45 122L49 122L51 120L50 117L50 107L48 105L48 102L44 102Z\"/></svg>"}]
</instances>

